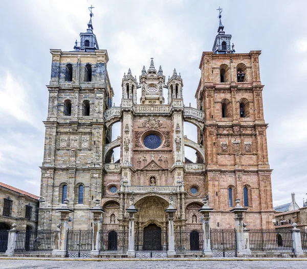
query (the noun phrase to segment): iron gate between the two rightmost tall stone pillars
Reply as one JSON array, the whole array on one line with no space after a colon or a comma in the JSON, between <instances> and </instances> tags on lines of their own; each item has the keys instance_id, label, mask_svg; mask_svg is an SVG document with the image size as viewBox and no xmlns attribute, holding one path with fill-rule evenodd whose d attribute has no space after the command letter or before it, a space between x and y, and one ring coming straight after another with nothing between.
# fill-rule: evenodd
<instances>
[{"instance_id":1,"label":"iron gate between the two rightmost tall stone pillars","mask_svg":"<svg viewBox=\"0 0 307 269\"><path fill-rule=\"evenodd\" d=\"M236 257L236 230L210 229L213 257Z\"/></svg>"}]
</instances>

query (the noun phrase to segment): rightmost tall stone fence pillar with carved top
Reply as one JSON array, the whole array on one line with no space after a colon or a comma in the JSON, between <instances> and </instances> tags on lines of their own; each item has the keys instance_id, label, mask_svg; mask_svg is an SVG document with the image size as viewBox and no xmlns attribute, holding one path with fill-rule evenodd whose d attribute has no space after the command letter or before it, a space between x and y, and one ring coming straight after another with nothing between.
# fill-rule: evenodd
<instances>
[{"instance_id":1,"label":"rightmost tall stone fence pillar with carved top","mask_svg":"<svg viewBox=\"0 0 307 269\"><path fill-rule=\"evenodd\" d=\"M235 229L236 229L236 242L237 242L237 256L250 257L252 255L249 246L248 230L244 231L243 212L247 210L240 205L240 199L235 200L236 206L230 210L234 213Z\"/></svg>"}]
</instances>

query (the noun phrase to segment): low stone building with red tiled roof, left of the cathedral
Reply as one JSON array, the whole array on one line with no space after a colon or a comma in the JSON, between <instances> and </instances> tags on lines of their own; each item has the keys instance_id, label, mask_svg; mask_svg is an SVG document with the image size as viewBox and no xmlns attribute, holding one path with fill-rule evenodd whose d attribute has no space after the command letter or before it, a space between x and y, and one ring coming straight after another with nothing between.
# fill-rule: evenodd
<instances>
[{"instance_id":1,"label":"low stone building with red tiled roof, left of the cathedral","mask_svg":"<svg viewBox=\"0 0 307 269\"><path fill-rule=\"evenodd\" d=\"M38 197L27 191L0 182L0 230L37 228Z\"/></svg>"}]
</instances>

